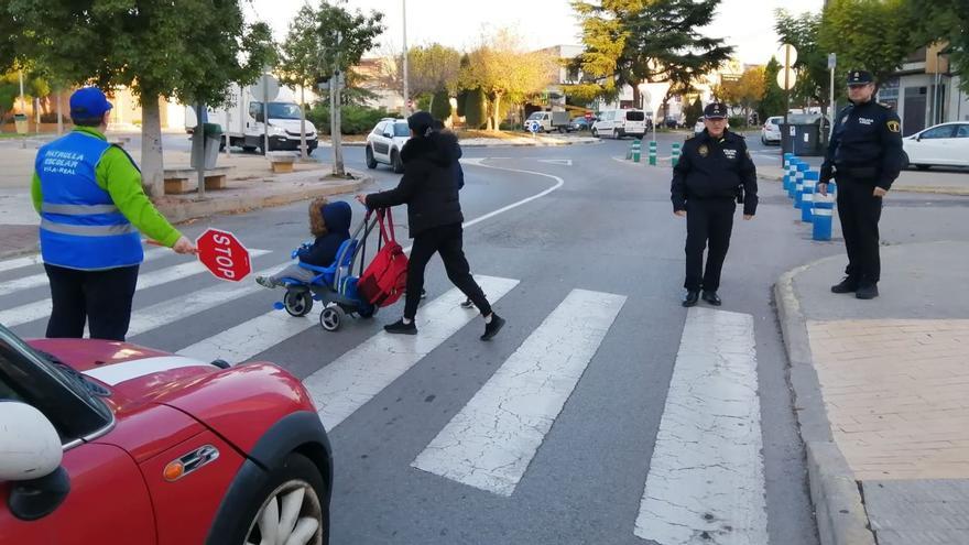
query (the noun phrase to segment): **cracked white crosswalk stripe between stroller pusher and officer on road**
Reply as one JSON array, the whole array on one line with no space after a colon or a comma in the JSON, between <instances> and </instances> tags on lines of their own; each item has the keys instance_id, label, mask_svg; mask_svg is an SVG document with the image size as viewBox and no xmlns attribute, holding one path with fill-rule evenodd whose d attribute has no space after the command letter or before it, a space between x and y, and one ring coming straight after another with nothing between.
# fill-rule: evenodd
<instances>
[{"instance_id":1,"label":"cracked white crosswalk stripe between stroller pusher and officer on road","mask_svg":"<svg viewBox=\"0 0 969 545\"><path fill-rule=\"evenodd\" d=\"M573 290L411 466L511 495L624 303Z\"/></svg>"}]
</instances>

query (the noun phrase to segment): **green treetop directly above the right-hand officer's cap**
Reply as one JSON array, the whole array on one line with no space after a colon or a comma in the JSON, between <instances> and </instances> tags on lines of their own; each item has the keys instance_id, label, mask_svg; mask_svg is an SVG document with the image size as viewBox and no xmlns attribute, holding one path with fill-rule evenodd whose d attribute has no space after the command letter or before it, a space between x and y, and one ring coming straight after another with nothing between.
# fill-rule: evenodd
<instances>
[{"instance_id":1,"label":"green treetop directly above the right-hand officer's cap","mask_svg":"<svg viewBox=\"0 0 969 545\"><path fill-rule=\"evenodd\" d=\"M821 17L818 44L838 55L838 72L871 72L884 81L914 50L904 0L831 0Z\"/></svg>"}]
</instances>

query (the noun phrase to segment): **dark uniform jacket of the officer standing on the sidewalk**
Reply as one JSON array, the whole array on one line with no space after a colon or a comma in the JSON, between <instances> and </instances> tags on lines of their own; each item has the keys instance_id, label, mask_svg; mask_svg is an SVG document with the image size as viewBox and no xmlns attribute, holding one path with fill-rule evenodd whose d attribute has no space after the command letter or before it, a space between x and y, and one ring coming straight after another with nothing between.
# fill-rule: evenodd
<instances>
[{"instance_id":1,"label":"dark uniform jacket of the officer standing on the sidewalk","mask_svg":"<svg viewBox=\"0 0 969 545\"><path fill-rule=\"evenodd\" d=\"M874 100L849 105L835 120L820 182L842 176L852 183L889 189L903 162L899 115Z\"/></svg>"}]
</instances>

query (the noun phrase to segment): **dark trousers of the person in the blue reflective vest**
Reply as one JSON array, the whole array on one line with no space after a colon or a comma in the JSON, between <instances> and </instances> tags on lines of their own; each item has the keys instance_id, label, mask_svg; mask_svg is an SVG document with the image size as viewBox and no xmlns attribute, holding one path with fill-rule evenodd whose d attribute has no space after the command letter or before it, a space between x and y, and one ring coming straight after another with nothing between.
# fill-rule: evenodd
<instances>
[{"instance_id":1,"label":"dark trousers of the person in the blue reflective vest","mask_svg":"<svg viewBox=\"0 0 969 545\"><path fill-rule=\"evenodd\" d=\"M45 264L54 303L47 337L79 339L87 320L92 339L124 340L138 266L78 271Z\"/></svg>"}]
</instances>

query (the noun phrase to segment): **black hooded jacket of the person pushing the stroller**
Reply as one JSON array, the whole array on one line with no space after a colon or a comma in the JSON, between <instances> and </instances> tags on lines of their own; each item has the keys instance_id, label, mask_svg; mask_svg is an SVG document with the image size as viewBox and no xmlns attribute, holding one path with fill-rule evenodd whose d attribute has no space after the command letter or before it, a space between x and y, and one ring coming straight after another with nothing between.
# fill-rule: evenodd
<instances>
[{"instance_id":1,"label":"black hooded jacket of the person pushing the stroller","mask_svg":"<svg viewBox=\"0 0 969 545\"><path fill-rule=\"evenodd\" d=\"M393 189L371 193L368 208L388 208L407 205L407 225L411 238L433 227L460 224L461 204L458 200L456 164L461 156L457 137L447 132L432 132L414 137L401 150L404 175Z\"/></svg>"}]
</instances>

